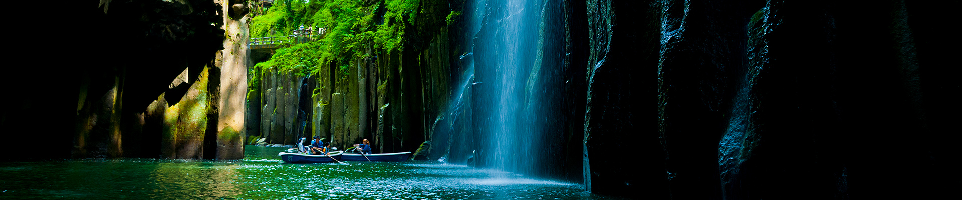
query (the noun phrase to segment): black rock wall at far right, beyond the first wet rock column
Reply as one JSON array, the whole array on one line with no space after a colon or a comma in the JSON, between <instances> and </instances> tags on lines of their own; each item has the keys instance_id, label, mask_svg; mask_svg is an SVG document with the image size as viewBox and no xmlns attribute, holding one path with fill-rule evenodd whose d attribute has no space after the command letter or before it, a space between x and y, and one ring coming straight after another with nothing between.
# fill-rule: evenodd
<instances>
[{"instance_id":1,"label":"black rock wall at far right, beyond the first wet rock column","mask_svg":"<svg viewBox=\"0 0 962 200\"><path fill-rule=\"evenodd\" d=\"M958 185L942 176L919 175L958 176L944 168L953 166L945 161L957 158L937 153L953 151L943 141L956 137L931 133L935 129L927 124L932 121L920 114L919 105L955 107L943 92L933 94L940 99L922 100L926 103L919 100L927 94L918 92L957 88L935 78L955 69L936 64L947 61L935 56L941 54L938 47L930 49L928 62L935 65L926 70L933 73L931 83L939 84L922 86L924 51L907 48L912 40L907 38L921 38L909 37L913 31L933 34L926 30L944 20L942 12L922 9L931 5L653 5L663 11L658 134L667 152L666 195L912 198L944 195L937 188ZM913 11L919 18L906 22L903 17ZM905 62L913 57L917 63ZM925 112L956 118L935 110ZM945 125L937 125L937 132L955 130ZM901 139L906 135L914 137ZM890 150L885 144L900 147ZM883 158L900 161L886 164Z\"/></svg>"}]
</instances>

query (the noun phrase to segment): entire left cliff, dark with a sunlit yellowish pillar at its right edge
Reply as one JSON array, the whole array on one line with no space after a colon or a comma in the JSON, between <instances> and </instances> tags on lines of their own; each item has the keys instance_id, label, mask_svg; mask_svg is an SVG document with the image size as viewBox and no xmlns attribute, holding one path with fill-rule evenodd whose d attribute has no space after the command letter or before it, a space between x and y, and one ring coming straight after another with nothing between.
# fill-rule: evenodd
<instances>
[{"instance_id":1,"label":"entire left cliff, dark with a sunlit yellowish pillar at its right edge","mask_svg":"<svg viewBox=\"0 0 962 200\"><path fill-rule=\"evenodd\" d=\"M243 141L239 136L244 130L247 43L244 2L103 3L100 8L82 3L44 8L53 12L49 16L57 20L69 19L58 29L87 30L71 32L70 38L97 42L71 53L63 62L48 62L70 66L51 68L57 72L48 77L58 81L38 86L58 88L56 95L43 94L49 92L42 89L16 91L31 96L27 102L71 108L30 109L34 108L31 104L3 102L25 108L0 114L0 126L4 129L14 124L41 127L38 123L43 123L46 125L42 127L48 127L50 132L63 133L52 136L58 138L53 139L57 148L42 148L41 151L49 151L42 153L44 156L11 159L241 159ZM33 26L37 25L23 27L45 28ZM49 32L50 36L43 37L62 34ZM32 46L58 45L41 42ZM12 73L36 73L18 70L35 69L16 69ZM63 104L47 99L76 102ZM29 116L23 115L28 111L46 113L48 117L20 117ZM40 118L60 122L48 123L51 120ZM23 147L27 146L11 148Z\"/></svg>"}]
</instances>

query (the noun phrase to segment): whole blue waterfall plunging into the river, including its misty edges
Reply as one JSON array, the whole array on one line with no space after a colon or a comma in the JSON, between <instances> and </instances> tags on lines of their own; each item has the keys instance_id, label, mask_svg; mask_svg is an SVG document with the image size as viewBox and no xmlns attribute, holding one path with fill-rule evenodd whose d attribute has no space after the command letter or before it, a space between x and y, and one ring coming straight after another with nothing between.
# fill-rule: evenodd
<instances>
[{"instance_id":1,"label":"whole blue waterfall plunging into the river, including its misty edges","mask_svg":"<svg viewBox=\"0 0 962 200\"><path fill-rule=\"evenodd\" d=\"M561 131L557 110L564 55L561 1L477 2L483 20L473 38L473 131L479 166L539 173ZM481 6L483 5L483 6ZM556 83L558 82L558 83ZM548 111L548 112L546 112ZM557 139L560 140L560 139Z\"/></svg>"}]
</instances>

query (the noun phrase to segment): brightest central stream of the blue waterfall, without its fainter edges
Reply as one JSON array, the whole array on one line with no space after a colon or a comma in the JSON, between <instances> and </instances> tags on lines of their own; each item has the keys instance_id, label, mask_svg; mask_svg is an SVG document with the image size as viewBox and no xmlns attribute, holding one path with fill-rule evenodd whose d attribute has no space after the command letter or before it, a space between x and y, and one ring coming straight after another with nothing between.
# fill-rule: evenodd
<instances>
[{"instance_id":1,"label":"brightest central stream of the blue waterfall, without its fainter edges","mask_svg":"<svg viewBox=\"0 0 962 200\"><path fill-rule=\"evenodd\" d=\"M518 162L531 151L519 142L519 114L523 97L522 77L533 64L534 38L537 33L528 17L529 6L522 0L487 1L484 25L475 38L474 61L477 66L475 112L481 118L475 130L487 142L481 144L481 161L494 169L518 172ZM537 10L535 10L537 11ZM476 85L477 86L477 85Z\"/></svg>"}]
</instances>

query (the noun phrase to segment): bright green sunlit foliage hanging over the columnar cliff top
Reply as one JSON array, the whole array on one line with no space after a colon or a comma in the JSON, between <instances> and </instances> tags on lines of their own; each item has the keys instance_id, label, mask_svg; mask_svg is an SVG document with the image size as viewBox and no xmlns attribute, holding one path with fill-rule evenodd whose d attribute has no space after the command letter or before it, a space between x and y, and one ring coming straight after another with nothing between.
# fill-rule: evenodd
<instances>
[{"instance_id":1,"label":"bright green sunlit foliage hanging over the columnar cliff top","mask_svg":"<svg viewBox=\"0 0 962 200\"><path fill-rule=\"evenodd\" d=\"M266 13L251 20L251 38L291 36L300 26L325 34L305 43L282 44L270 60L257 63L255 70L278 69L303 76L335 66L339 74L349 75L347 69L355 59L403 50L405 30L417 18L419 5L419 0L275 1ZM378 11L384 11L383 15ZM460 13L452 14L448 17Z\"/></svg>"}]
</instances>

